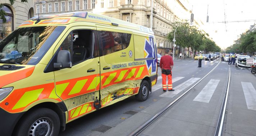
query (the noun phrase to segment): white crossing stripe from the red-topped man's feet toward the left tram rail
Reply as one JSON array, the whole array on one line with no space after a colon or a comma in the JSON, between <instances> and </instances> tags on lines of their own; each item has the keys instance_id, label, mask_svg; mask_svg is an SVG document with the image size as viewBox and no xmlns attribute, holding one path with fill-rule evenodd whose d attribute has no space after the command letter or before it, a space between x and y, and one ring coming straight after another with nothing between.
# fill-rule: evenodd
<instances>
[{"instance_id":1,"label":"white crossing stripe from the red-topped man's feet toward the left tram rail","mask_svg":"<svg viewBox=\"0 0 256 136\"><path fill-rule=\"evenodd\" d=\"M179 92L181 92L184 89L186 89L187 87L191 86L191 84L195 83L199 79L200 78L192 77L192 78L188 79L187 81L183 82L182 84L179 84L177 87L174 87L173 89L175 89L175 91L165 92L165 93L161 94L160 97L171 97L172 98Z\"/></svg>"}]
</instances>

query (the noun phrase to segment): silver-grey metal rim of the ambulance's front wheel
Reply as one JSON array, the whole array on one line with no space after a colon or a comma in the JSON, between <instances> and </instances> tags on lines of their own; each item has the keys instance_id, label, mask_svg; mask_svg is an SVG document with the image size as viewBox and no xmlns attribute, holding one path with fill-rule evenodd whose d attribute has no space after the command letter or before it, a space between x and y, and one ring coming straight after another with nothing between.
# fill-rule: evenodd
<instances>
[{"instance_id":1,"label":"silver-grey metal rim of the ambulance's front wheel","mask_svg":"<svg viewBox=\"0 0 256 136\"><path fill-rule=\"evenodd\" d=\"M53 129L53 121L48 117L42 117L31 125L28 136L49 136Z\"/></svg>"}]
</instances>

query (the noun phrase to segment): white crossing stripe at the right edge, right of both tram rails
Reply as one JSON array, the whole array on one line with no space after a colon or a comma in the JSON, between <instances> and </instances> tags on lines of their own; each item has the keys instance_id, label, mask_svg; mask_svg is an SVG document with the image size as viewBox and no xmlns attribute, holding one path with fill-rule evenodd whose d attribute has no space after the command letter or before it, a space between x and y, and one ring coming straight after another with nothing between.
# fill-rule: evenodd
<instances>
[{"instance_id":1,"label":"white crossing stripe at the right edge, right of both tram rails","mask_svg":"<svg viewBox=\"0 0 256 136\"><path fill-rule=\"evenodd\" d=\"M256 110L256 91L250 82L241 82L247 108Z\"/></svg>"}]
</instances>

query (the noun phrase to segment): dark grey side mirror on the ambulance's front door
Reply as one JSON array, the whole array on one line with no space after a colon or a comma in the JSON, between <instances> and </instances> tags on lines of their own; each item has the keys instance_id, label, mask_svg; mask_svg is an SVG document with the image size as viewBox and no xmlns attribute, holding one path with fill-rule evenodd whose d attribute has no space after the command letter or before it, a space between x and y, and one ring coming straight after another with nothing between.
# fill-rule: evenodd
<instances>
[{"instance_id":1,"label":"dark grey side mirror on the ambulance's front door","mask_svg":"<svg viewBox=\"0 0 256 136\"><path fill-rule=\"evenodd\" d=\"M60 50L57 56L57 63L54 63L54 68L71 68L71 55L68 50Z\"/></svg>"}]
</instances>

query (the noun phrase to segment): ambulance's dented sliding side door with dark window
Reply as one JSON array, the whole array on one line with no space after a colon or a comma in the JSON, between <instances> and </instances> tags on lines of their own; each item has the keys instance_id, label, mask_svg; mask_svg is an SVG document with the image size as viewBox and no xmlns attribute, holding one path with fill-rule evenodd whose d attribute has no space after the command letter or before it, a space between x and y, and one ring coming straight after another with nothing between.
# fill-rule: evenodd
<instances>
[{"instance_id":1,"label":"ambulance's dented sliding side door with dark window","mask_svg":"<svg viewBox=\"0 0 256 136\"><path fill-rule=\"evenodd\" d=\"M96 25L100 52L101 107L128 97L134 90L134 45L132 32L125 28Z\"/></svg>"}]
</instances>

